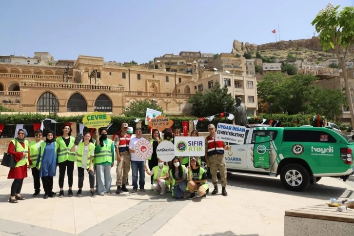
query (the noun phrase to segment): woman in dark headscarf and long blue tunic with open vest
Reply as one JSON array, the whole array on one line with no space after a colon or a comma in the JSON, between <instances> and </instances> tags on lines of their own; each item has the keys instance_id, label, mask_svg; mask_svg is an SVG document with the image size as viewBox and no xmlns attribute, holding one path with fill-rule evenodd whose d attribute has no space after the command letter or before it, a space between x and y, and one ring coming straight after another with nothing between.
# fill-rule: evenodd
<instances>
[{"instance_id":1,"label":"woman in dark headscarf and long blue tunic with open vest","mask_svg":"<svg viewBox=\"0 0 354 236\"><path fill-rule=\"evenodd\" d=\"M53 131L48 131L47 138L40 144L37 169L42 179L44 199L55 197L53 193L53 177L57 173L59 144L55 141Z\"/></svg>"}]
</instances>

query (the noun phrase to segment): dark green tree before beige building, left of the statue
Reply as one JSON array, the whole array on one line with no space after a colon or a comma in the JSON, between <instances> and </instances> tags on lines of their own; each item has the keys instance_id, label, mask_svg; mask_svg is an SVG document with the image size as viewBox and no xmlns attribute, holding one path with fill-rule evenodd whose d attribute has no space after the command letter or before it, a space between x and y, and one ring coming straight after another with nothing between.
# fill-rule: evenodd
<instances>
[{"instance_id":1,"label":"dark green tree before beige building, left of the statue","mask_svg":"<svg viewBox=\"0 0 354 236\"><path fill-rule=\"evenodd\" d=\"M235 98L229 93L227 85L220 87L219 82L215 82L214 87L204 93L197 92L188 102L193 103L192 115L196 117L209 117L224 112L224 102L226 111L232 112Z\"/></svg>"}]
</instances>

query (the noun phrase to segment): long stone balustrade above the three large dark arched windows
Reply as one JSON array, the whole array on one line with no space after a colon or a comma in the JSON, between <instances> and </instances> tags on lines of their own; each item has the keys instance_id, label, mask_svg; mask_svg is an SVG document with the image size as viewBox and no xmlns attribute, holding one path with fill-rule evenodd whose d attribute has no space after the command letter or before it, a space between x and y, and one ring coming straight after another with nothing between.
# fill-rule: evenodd
<instances>
[{"instance_id":1,"label":"long stone balustrade above the three large dark arched windows","mask_svg":"<svg viewBox=\"0 0 354 236\"><path fill-rule=\"evenodd\" d=\"M100 84L82 84L82 83L64 83L64 82L46 82L46 81L31 81L20 80L22 87L46 87L46 88L63 88L63 89L85 89L85 90L102 90L102 91L124 91L123 86L116 85L100 85Z\"/></svg>"}]
</instances>

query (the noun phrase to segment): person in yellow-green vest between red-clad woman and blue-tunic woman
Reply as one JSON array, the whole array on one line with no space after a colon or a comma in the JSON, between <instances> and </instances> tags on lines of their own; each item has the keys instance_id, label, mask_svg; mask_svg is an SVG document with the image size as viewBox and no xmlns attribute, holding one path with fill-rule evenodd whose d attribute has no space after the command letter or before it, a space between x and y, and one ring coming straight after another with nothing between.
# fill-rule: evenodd
<instances>
[{"instance_id":1,"label":"person in yellow-green vest between red-clad woman and blue-tunic woman","mask_svg":"<svg viewBox=\"0 0 354 236\"><path fill-rule=\"evenodd\" d=\"M31 165L31 171L33 176L33 185L35 187L35 193L32 197L36 197L39 195L40 192L40 178L39 178L39 170L37 170L37 159L39 155L39 148L40 144L43 142L42 140L43 131L38 129L35 131L35 140L30 142L28 156L29 156L29 163Z\"/></svg>"}]
</instances>

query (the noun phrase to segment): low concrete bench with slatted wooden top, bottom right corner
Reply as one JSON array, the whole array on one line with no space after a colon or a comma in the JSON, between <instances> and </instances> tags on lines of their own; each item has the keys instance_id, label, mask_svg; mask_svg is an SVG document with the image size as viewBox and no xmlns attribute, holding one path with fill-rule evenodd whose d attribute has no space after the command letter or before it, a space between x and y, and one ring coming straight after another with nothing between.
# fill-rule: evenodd
<instances>
[{"instance_id":1,"label":"low concrete bench with slatted wooden top, bottom right corner","mask_svg":"<svg viewBox=\"0 0 354 236\"><path fill-rule=\"evenodd\" d=\"M285 211L284 236L354 235L354 211L338 212L326 204Z\"/></svg>"}]
</instances>

